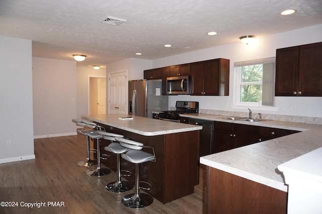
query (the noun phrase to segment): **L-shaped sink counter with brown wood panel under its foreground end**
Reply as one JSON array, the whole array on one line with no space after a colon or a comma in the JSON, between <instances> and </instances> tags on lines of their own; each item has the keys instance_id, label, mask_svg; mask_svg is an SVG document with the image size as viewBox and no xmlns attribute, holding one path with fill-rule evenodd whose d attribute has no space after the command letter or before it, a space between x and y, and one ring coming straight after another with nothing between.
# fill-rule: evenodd
<instances>
[{"instance_id":1,"label":"L-shaped sink counter with brown wood panel under its foreground end","mask_svg":"<svg viewBox=\"0 0 322 214\"><path fill-rule=\"evenodd\" d=\"M300 131L200 157L200 163L206 165L203 213L286 213L288 186L278 166L322 147L322 125L231 121L211 114L184 116Z\"/></svg>"}]
</instances>

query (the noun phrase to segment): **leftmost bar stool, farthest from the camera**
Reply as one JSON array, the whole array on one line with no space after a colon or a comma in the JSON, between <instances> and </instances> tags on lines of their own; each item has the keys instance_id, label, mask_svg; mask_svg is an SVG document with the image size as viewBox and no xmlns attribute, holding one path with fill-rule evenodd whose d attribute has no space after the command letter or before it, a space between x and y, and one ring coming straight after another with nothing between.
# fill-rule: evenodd
<instances>
[{"instance_id":1,"label":"leftmost bar stool, farthest from the camera","mask_svg":"<svg viewBox=\"0 0 322 214\"><path fill-rule=\"evenodd\" d=\"M90 136L89 136L89 133L95 132L95 130L93 128L95 128L97 124L93 123L93 122L90 122L88 120L72 119L71 121L73 123L75 123L77 126L82 126L83 127L83 129L77 129L77 133L86 135L87 158L86 158L86 160L81 160L81 161L77 162L77 165L78 166L84 166L84 167L89 167L89 166L92 166L92 165L96 165L97 161L90 159L91 149L90 149Z\"/></svg>"}]
</instances>

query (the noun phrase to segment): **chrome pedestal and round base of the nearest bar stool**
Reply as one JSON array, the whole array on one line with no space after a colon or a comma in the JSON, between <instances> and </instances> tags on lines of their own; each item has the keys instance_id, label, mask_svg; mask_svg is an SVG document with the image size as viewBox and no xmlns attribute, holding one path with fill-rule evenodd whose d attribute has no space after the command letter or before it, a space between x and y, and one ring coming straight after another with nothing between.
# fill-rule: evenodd
<instances>
[{"instance_id":1,"label":"chrome pedestal and round base of the nearest bar stool","mask_svg":"<svg viewBox=\"0 0 322 214\"><path fill-rule=\"evenodd\" d=\"M135 193L128 194L122 198L122 204L130 208L143 208L153 202L153 197L149 194L139 192L140 172L139 164L135 163ZM144 189L144 188L143 188Z\"/></svg>"}]
</instances>

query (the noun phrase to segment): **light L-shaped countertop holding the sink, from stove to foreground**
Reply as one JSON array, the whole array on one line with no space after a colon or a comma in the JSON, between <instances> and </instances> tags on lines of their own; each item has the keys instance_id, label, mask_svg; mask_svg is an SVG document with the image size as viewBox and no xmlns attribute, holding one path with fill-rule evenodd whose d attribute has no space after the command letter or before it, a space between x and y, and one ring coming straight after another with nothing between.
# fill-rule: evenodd
<instances>
[{"instance_id":1,"label":"light L-shaped countertop holding the sink, from stove to foreground","mask_svg":"<svg viewBox=\"0 0 322 214\"><path fill-rule=\"evenodd\" d=\"M200 157L200 163L287 192L278 165L322 147L322 125L285 121L260 123L220 119L223 115L184 114L182 116L272 128L302 131L252 145ZM313 164L320 165L320 162ZM318 167L318 166L315 166ZM314 171L314 170L313 170Z\"/></svg>"}]
</instances>

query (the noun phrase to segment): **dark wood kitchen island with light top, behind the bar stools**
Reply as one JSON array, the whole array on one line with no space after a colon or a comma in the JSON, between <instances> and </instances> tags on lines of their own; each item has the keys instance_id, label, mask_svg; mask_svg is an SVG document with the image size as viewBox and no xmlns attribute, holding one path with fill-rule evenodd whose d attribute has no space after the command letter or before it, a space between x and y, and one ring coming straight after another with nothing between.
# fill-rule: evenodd
<instances>
[{"instance_id":1,"label":"dark wood kitchen island with light top, behind the bar stools","mask_svg":"<svg viewBox=\"0 0 322 214\"><path fill-rule=\"evenodd\" d=\"M83 115L82 118L102 125L107 132L154 147L156 162L143 163L145 172L140 171L140 179L152 184L147 193L157 200L167 203L194 192L199 182L199 130L202 127L124 114ZM104 147L109 143L102 140L102 154L108 153ZM116 156L108 154L110 157L102 163L116 170ZM122 159L121 169L133 173L126 179L134 183L134 164Z\"/></svg>"}]
</instances>

